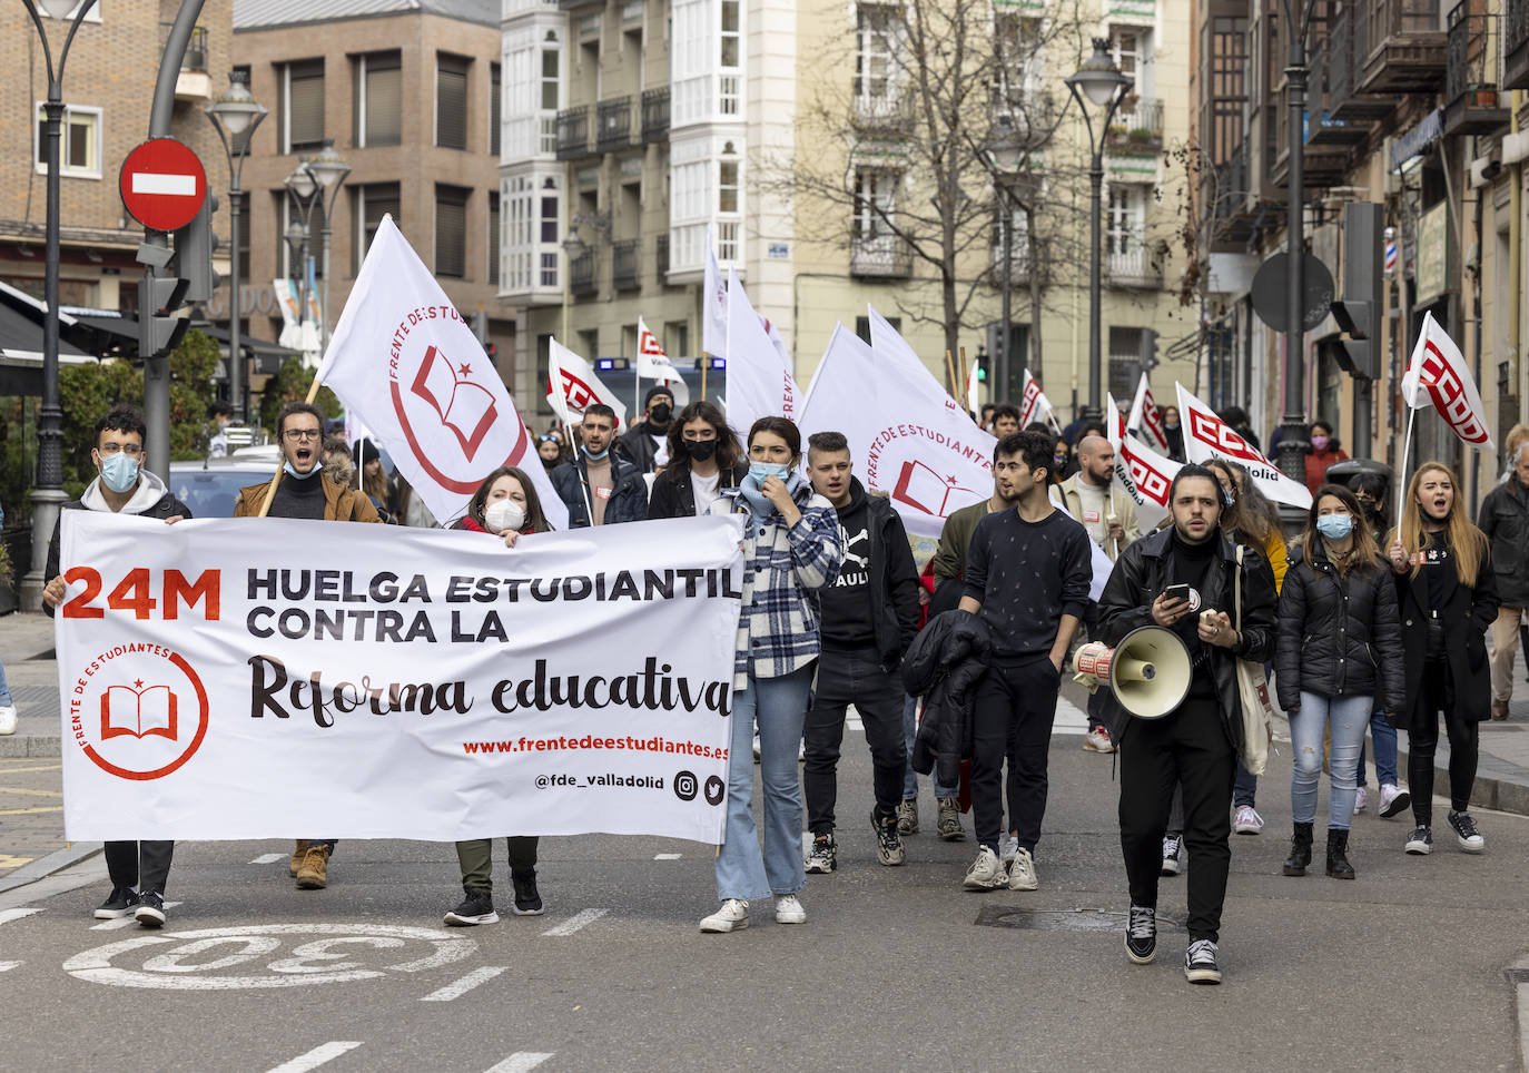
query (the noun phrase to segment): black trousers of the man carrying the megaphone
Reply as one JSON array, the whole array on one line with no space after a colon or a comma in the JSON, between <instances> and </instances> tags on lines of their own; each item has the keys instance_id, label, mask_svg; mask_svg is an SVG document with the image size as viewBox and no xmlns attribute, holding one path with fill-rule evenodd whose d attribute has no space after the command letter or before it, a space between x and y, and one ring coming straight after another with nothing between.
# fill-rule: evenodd
<instances>
[{"instance_id":1,"label":"black trousers of the man carrying the megaphone","mask_svg":"<svg viewBox=\"0 0 1529 1073\"><path fill-rule=\"evenodd\" d=\"M1217 942L1232 848L1237 755L1214 697L1190 697L1171 715L1133 718L1121 744L1121 851L1131 905L1157 908L1162 835L1174 790L1183 790L1190 847L1190 937Z\"/></svg>"}]
</instances>

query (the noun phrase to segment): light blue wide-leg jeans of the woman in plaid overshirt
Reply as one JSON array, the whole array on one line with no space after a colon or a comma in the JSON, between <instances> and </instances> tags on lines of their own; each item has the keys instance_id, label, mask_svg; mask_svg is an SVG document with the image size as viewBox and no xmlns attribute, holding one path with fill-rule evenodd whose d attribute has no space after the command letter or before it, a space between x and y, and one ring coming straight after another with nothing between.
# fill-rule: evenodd
<instances>
[{"instance_id":1,"label":"light blue wide-leg jeans of the woman in plaid overshirt","mask_svg":"<svg viewBox=\"0 0 1529 1073\"><path fill-rule=\"evenodd\" d=\"M732 744L728 752L728 827L717 853L717 900L795 894L806 885L801 859L801 775L797 750L807 717L813 665L777 679L749 671L732 694ZM754 827L754 721L760 728L760 781L764 787L764 850Z\"/></svg>"}]
</instances>

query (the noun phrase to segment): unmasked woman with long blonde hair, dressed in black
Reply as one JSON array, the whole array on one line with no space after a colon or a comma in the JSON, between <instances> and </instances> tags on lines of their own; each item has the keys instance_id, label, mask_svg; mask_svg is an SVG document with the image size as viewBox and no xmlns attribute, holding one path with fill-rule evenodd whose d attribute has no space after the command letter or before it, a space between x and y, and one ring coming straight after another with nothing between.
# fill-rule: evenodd
<instances>
[{"instance_id":1,"label":"unmasked woman with long blonde hair, dressed in black","mask_svg":"<svg viewBox=\"0 0 1529 1073\"><path fill-rule=\"evenodd\" d=\"M1475 828L1477 723L1488 718L1492 679L1486 628L1497 618L1497 582L1486 533L1456 503L1454 471L1425 462L1407 483L1401 524L1387 549L1402 614L1407 659L1407 778L1413 821L1407 851L1433 853L1433 772L1439 717L1449 737L1449 827L1466 853L1486 839Z\"/></svg>"}]
</instances>

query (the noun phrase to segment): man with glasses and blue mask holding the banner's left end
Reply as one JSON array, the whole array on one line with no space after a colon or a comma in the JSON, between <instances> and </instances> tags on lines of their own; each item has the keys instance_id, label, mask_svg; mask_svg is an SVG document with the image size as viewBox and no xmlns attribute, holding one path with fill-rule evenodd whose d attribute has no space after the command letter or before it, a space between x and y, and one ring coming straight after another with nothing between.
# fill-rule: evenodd
<instances>
[{"instance_id":1,"label":"man with glasses and blue mask holding the banner's left end","mask_svg":"<svg viewBox=\"0 0 1529 1073\"><path fill-rule=\"evenodd\" d=\"M84 495L73 503L64 503L64 511L110 511L112 514L136 514L144 518L161 518L176 523L191 517L191 509L165 488L157 475L144 468L144 437L148 428L144 414L135 407L113 407L95 425L95 445L90 462L98 475L86 486ZM54 538L47 544L47 578L43 588L43 607L49 614L64 602L69 584L60 570L60 524L54 526ZM121 920L135 917L144 928L159 928L165 923L165 880L170 877L170 857L176 844L170 841L122 841L106 844L106 870L112 879L112 893L96 911L96 920Z\"/></svg>"}]
</instances>

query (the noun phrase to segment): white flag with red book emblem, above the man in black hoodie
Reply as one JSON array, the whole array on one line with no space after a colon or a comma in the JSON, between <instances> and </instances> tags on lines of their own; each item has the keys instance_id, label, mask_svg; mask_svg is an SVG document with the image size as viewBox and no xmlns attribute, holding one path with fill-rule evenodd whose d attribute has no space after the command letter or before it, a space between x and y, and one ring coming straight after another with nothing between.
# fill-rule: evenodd
<instances>
[{"instance_id":1,"label":"white flag with red book emblem, above the man in black hoodie","mask_svg":"<svg viewBox=\"0 0 1529 1073\"><path fill-rule=\"evenodd\" d=\"M800 425L803 440L842 433L861 483L891 497L910 535L934 540L951 511L992 495L995 440L914 362L836 326Z\"/></svg>"}]
</instances>

